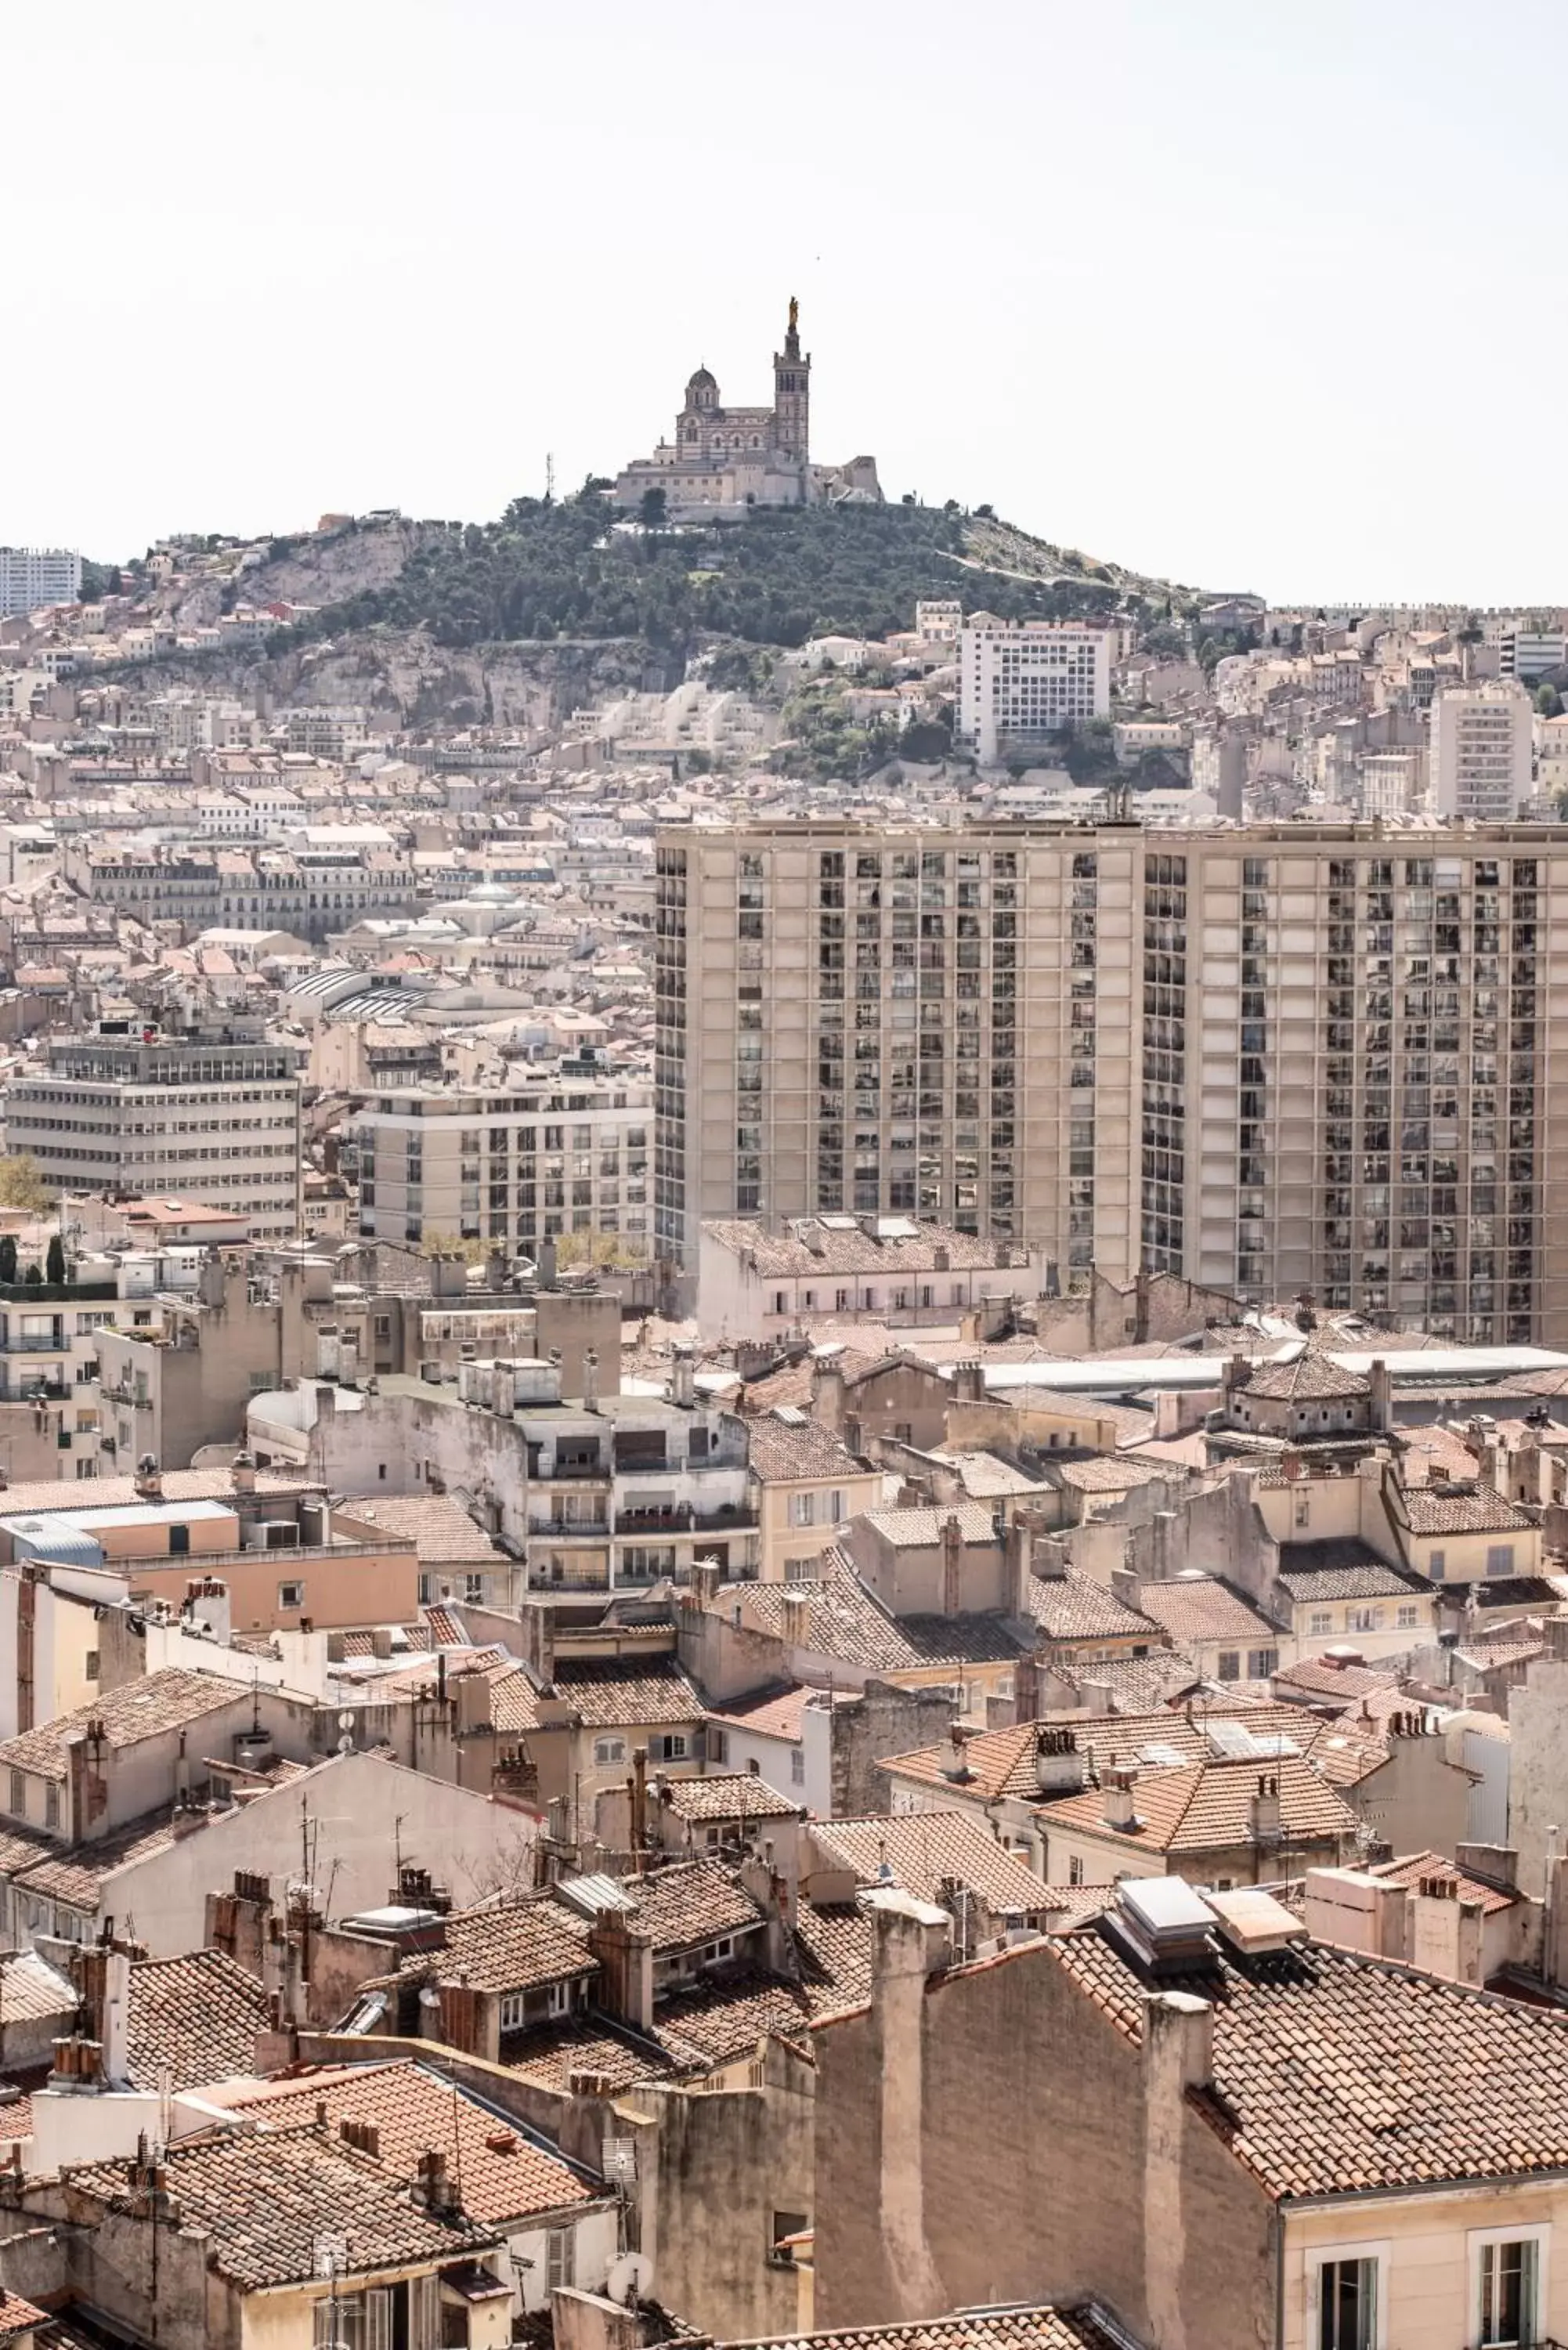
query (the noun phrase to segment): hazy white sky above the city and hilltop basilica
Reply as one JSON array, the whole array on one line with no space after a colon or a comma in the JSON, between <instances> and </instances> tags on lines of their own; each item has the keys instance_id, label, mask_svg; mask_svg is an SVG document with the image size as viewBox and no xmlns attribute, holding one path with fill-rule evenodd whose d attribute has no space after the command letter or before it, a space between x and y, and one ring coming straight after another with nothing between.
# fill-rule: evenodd
<instances>
[{"instance_id":1,"label":"hazy white sky above the city and hilltop basilica","mask_svg":"<svg viewBox=\"0 0 1568 2350\"><path fill-rule=\"evenodd\" d=\"M1568 602L1547 0L5 12L0 540L616 470L705 360L1208 588Z\"/></svg>"}]
</instances>

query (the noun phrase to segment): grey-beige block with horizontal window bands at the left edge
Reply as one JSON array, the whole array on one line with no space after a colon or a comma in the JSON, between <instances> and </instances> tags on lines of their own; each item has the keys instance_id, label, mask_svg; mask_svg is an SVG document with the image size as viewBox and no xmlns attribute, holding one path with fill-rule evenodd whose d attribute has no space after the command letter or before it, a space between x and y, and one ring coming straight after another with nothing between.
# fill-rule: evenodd
<instances>
[{"instance_id":1,"label":"grey-beige block with horizontal window bands at the left edge","mask_svg":"<svg viewBox=\"0 0 1568 2350\"><path fill-rule=\"evenodd\" d=\"M47 1184L181 1191L249 1217L259 1241L299 1229L296 1055L261 1022L188 1034L103 1022L45 1053L5 1097L5 1135Z\"/></svg>"}]
</instances>

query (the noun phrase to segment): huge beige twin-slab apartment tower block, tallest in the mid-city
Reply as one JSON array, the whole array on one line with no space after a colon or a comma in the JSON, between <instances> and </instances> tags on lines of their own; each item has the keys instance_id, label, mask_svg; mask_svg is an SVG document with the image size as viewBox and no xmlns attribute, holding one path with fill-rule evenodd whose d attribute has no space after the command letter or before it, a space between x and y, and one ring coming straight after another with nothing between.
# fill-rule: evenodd
<instances>
[{"instance_id":1,"label":"huge beige twin-slab apartment tower block, tallest in the mid-city","mask_svg":"<svg viewBox=\"0 0 1568 2350\"><path fill-rule=\"evenodd\" d=\"M778 822L658 839L656 1238L905 1213L1568 1337L1568 839Z\"/></svg>"}]
</instances>

